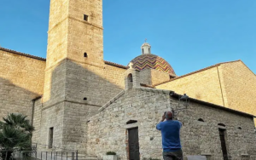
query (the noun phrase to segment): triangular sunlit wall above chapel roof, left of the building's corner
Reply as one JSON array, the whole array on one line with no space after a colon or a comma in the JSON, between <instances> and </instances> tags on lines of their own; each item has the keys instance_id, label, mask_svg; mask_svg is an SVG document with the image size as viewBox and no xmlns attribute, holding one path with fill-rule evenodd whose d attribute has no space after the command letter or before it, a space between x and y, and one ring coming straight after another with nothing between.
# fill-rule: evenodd
<instances>
[{"instance_id":1,"label":"triangular sunlit wall above chapel roof, left of the building's corner","mask_svg":"<svg viewBox=\"0 0 256 160\"><path fill-rule=\"evenodd\" d=\"M187 94L191 98L224 106L217 67L185 77L174 78L168 83L155 86L155 88L170 89L177 94Z\"/></svg>"}]
</instances>

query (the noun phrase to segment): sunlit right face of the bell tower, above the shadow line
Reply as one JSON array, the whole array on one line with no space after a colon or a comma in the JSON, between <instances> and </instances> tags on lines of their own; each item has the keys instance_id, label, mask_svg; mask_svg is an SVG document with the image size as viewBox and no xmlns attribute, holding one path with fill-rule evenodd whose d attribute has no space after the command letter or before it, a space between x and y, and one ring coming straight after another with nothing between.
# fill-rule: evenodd
<instances>
[{"instance_id":1,"label":"sunlit right face of the bell tower, above the shadow line","mask_svg":"<svg viewBox=\"0 0 256 160\"><path fill-rule=\"evenodd\" d=\"M69 0L67 58L103 64L102 0ZM84 20L84 14L88 20ZM87 57L84 57L87 53Z\"/></svg>"}]
</instances>

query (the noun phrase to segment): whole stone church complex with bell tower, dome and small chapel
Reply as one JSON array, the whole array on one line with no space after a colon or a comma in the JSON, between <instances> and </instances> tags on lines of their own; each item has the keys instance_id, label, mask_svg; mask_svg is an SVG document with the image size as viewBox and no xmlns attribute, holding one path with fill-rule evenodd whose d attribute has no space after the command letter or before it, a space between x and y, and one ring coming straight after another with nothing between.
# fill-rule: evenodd
<instances>
[{"instance_id":1,"label":"whole stone church complex with bell tower, dome and small chapel","mask_svg":"<svg viewBox=\"0 0 256 160\"><path fill-rule=\"evenodd\" d=\"M143 43L103 60L102 0L51 0L47 58L0 48L0 117L26 114L34 143L88 157L161 157L165 111L183 123L184 157L256 159L256 76L241 60L183 76Z\"/></svg>"}]
</instances>

